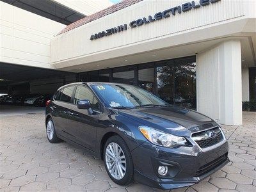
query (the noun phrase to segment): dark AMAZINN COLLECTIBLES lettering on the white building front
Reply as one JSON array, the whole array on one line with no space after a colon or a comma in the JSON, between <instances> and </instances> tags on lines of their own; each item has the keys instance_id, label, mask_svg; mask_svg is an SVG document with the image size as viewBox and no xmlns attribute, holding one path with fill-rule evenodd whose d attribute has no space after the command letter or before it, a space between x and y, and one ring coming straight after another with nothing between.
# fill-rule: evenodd
<instances>
[{"instance_id":1,"label":"dark AMAZINN COLLECTIBLES lettering on the white building front","mask_svg":"<svg viewBox=\"0 0 256 192\"><path fill-rule=\"evenodd\" d=\"M136 28L139 26L142 26L143 24L148 24L150 22L155 22L156 20L161 20L163 18L168 18L171 15L175 16L176 13L181 14L182 12L188 12L191 9L197 9L201 6L209 5L210 3L216 3L221 0L200 0L199 3L195 3L195 1L192 1L191 3L184 3L181 6L175 6L173 8L170 8L168 10L164 10L163 12L157 12L154 17L152 15L148 15L148 17L143 17L142 19L132 20L129 24L131 28ZM91 35L90 40L95 40L98 38L102 38L103 36L113 35L115 33L120 33L121 31L127 30L127 24L120 25L116 28L106 29L106 31L102 31L99 33L95 33L94 35Z\"/></svg>"}]
</instances>

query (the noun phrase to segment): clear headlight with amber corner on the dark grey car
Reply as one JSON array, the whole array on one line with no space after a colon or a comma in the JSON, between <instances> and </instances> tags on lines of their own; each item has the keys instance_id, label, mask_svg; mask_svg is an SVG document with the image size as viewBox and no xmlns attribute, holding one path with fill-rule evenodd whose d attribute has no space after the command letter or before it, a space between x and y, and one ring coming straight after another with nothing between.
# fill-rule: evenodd
<instances>
[{"instance_id":1,"label":"clear headlight with amber corner on the dark grey car","mask_svg":"<svg viewBox=\"0 0 256 192\"><path fill-rule=\"evenodd\" d=\"M186 145L186 139L183 137L175 136L165 132L157 131L150 127L139 127L140 132L147 138L148 141L155 145L163 147L177 147L180 145Z\"/></svg>"}]
</instances>

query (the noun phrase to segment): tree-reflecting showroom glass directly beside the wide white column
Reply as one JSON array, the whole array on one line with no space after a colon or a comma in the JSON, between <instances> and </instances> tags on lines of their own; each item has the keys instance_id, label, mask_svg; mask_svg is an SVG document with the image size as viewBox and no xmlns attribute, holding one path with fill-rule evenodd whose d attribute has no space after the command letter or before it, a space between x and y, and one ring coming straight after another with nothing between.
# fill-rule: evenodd
<instances>
[{"instance_id":1,"label":"tree-reflecting showroom glass directly beside the wide white column","mask_svg":"<svg viewBox=\"0 0 256 192\"><path fill-rule=\"evenodd\" d=\"M195 58L158 62L156 71L156 95L170 104L196 109Z\"/></svg>"}]
</instances>

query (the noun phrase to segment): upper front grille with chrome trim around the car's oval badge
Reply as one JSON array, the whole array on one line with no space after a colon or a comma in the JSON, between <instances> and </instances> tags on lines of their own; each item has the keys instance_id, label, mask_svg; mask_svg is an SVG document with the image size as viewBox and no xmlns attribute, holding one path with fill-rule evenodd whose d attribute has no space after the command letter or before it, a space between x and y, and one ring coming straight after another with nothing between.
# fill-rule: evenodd
<instances>
[{"instance_id":1,"label":"upper front grille with chrome trim around the car's oval badge","mask_svg":"<svg viewBox=\"0 0 256 192\"><path fill-rule=\"evenodd\" d=\"M216 134L215 138L211 138L209 134L211 132L214 132ZM192 139L201 147L201 148L206 148L206 147L211 147L212 145L216 145L220 141L223 140L223 135L221 133L220 127L214 127L212 129L206 130L206 131L201 131L201 132L196 132L192 134Z\"/></svg>"}]
</instances>

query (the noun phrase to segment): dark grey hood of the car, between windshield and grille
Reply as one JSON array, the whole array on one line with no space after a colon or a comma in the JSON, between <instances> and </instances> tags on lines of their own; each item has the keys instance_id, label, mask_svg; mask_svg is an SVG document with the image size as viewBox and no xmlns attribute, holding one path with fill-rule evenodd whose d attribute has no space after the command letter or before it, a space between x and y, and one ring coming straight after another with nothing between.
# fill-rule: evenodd
<instances>
[{"instance_id":1,"label":"dark grey hood of the car, between windshield and grille","mask_svg":"<svg viewBox=\"0 0 256 192\"><path fill-rule=\"evenodd\" d=\"M141 125L177 136L190 136L192 132L218 126L214 120L201 113L176 106L120 109L119 113L140 122Z\"/></svg>"}]
</instances>

